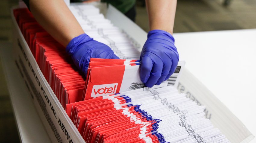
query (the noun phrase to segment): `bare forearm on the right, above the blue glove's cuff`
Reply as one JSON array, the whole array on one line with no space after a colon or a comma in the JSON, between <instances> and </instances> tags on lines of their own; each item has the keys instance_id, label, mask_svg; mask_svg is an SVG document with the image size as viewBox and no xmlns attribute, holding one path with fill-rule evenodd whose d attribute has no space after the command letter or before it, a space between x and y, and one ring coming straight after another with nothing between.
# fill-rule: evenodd
<instances>
[{"instance_id":1,"label":"bare forearm on the right, above the blue glove's cuff","mask_svg":"<svg viewBox=\"0 0 256 143\"><path fill-rule=\"evenodd\" d=\"M164 30L173 34L177 0L146 0L150 30Z\"/></svg>"}]
</instances>

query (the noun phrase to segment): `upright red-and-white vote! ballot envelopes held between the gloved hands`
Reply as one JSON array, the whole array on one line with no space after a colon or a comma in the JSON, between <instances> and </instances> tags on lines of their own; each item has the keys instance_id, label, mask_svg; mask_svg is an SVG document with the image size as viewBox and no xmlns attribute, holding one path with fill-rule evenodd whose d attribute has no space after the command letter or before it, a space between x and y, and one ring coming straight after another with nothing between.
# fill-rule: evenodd
<instances>
[{"instance_id":1,"label":"upright red-and-white vote! ballot envelopes held between the gloved hands","mask_svg":"<svg viewBox=\"0 0 256 143\"><path fill-rule=\"evenodd\" d=\"M91 61L90 65L97 66L89 66L84 100L145 87L139 76L139 60L122 60L119 64L117 61L104 60L96 64ZM179 70L181 66L184 66L184 62L178 64ZM172 75L175 77L172 82L177 81L179 74Z\"/></svg>"}]
</instances>

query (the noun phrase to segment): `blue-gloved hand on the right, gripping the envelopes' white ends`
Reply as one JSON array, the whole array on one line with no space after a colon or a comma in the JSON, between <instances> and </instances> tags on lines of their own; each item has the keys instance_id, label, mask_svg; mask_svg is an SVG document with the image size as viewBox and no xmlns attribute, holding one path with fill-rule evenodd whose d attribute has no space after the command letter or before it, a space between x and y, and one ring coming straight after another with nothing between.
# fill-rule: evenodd
<instances>
[{"instance_id":1,"label":"blue-gloved hand on the right, gripping the envelopes' white ends","mask_svg":"<svg viewBox=\"0 0 256 143\"><path fill-rule=\"evenodd\" d=\"M162 30L148 32L140 60L140 79L145 86L152 87L167 80L179 62L173 36Z\"/></svg>"}]
</instances>

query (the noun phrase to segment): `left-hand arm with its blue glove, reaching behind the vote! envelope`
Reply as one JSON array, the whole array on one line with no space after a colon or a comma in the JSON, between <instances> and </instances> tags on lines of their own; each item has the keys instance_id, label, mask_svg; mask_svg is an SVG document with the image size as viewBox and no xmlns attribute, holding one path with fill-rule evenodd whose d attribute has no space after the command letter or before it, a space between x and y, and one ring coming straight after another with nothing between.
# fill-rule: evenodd
<instances>
[{"instance_id":1,"label":"left-hand arm with its blue glove, reaching behind the vote! envelope","mask_svg":"<svg viewBox=\"0 0 256 143\"><path fill-rule=\"evenodd\" d=\"M86 35L63 0L29 0L36 21L66 47L76 67L86 76L90 58L119 59L108 45Z\"/></svg>"}]
</instances>

